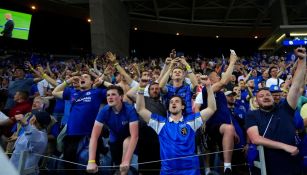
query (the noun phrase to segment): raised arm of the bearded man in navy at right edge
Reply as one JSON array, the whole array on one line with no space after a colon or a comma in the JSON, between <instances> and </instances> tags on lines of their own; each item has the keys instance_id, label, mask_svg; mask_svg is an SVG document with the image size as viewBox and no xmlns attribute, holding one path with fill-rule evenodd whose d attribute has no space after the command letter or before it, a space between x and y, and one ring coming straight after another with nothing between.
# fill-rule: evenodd
<instances>
[{"instance_id":1,"label":"raised arm of the bearded man in navy at right edge","mask_svg":"<svg viewBox=\"0 0 307 175\"><path fill-rule=\"evenodd\" d=\"M289 105L295 109L298 98L300 97L299 89L301 82L304 81L306 72L306 49L299 47L294 50L295 55L298 57L297 68L292 79L292 85L287 95Z\"/></svg>"}]
</instances>

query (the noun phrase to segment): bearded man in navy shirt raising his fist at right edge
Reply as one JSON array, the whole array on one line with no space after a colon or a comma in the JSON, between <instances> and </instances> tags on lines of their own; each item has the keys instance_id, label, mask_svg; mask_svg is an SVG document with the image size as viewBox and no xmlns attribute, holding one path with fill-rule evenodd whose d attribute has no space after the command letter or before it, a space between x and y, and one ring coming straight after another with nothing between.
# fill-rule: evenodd
<instances>
[{"instance_id":1,"label":"bearded man in navy shirt raising his fist at right edge","mask_svg":"<svg viewBox=\"0 0 307 175\"><path fill-rule=\"evenodd\" d=\"M298 57L298 65L286 100L274 104L269 89L259 89L256 94L259 109L250 111L245 120L250 141L264 146L268 175L302 174L302 159L298 156L293 117L300 96L300 84L306 72L306 49L297 48L294 52Z\"/></svg>"}]
</instances>

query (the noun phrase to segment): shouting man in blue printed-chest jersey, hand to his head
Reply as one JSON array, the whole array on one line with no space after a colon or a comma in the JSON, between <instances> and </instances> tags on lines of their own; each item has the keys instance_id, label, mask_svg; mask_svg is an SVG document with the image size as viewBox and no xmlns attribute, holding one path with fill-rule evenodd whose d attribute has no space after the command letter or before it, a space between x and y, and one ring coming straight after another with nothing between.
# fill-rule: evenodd
<instances>
[{"instance_id":1,"label":"shouting man in blue printed-chest jersey, hand to his head","mask_svg":"<svg viewBox=\"0 0 307 175\"><path fill-rule=\"evenodd\" d=\"M79 89L68 86L79 84ZM64 138L64 159L68 161L86 161L87 157L80 157L78 147L91 135L95 118L99 111L100 104L106 98L104 88L92 88L94 77L89 74L74 76L58 85L52 92L56 98L69 100L71 102L70 112L67 121L67 131ZM67 87L68 86L68 87ZM75 169L75 165L65 164L65 168ZM75 174L68 172L67 174Z\"/></svg>"}]
</instances>

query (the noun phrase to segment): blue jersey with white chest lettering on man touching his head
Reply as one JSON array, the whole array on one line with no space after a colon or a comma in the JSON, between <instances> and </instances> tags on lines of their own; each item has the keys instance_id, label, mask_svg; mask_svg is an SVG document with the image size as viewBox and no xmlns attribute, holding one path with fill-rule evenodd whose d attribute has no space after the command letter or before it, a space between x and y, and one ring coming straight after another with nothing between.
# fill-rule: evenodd
<instances>
[{"instance_id":1,"label":"blue jersey with white chest lettering on man touching his head","mask_svg":"<svg viewBox=\"0 0 307 175\"><path fill-rule=\"evenodd\" d=\"M67 121L67 135L90 135L100 104L105 98L105 89L76 91L73 88L65 88L63 99L71 102Z\"/></svg>"}]
</instances>

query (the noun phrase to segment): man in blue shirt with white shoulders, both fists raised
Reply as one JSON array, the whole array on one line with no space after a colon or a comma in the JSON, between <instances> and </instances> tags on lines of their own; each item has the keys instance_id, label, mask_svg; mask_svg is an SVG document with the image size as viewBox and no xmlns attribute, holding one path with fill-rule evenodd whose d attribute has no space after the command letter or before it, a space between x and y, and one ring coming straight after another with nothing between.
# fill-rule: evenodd
<instances>
[{"instance_id":1,"label":"man in blue shirt with white shoulders, both fists raised","mask_svg":"<svg viewBox=\"0 0 307 175\"><path fill-rule=\"evenodd\" d=\"M208 91L208 107L198 113L183 116L185 101L174 95L170 98L167 117L153 114L145 108L144 88L148 81L142 78L140 82L136 99L137 112L159 136L162 175L200 174L198 157L195 155L195 132L216 110L211 82L206 76L202 76L202 81Z\"/></svg>"}]
</instances>

